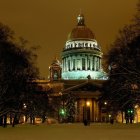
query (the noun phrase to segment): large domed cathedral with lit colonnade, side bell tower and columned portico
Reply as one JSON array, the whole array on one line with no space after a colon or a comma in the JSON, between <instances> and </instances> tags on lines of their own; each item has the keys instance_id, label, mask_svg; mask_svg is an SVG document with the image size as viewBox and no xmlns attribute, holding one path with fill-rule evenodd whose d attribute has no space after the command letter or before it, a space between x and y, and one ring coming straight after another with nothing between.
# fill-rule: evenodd
<instances>
[{"instance_id":1,"label":"large domed cathedral with lit colonnade, side bell tower and columned portico","mask_svg":"<svg viewBox=\"0 0 140 140\"><path fill-rule=\"evenodd\" d=\"M101 47L95 34L86 26L83 14L68 34L61 53L62 62L55 58L49 67L51 97L72 94L76 97L74 120L99 122L105 118L98 99L107 74L102 68ZM57 88L56 88L57 87ZM57 90L54 90L57 89Z\"/></svg>"}]
</instances>

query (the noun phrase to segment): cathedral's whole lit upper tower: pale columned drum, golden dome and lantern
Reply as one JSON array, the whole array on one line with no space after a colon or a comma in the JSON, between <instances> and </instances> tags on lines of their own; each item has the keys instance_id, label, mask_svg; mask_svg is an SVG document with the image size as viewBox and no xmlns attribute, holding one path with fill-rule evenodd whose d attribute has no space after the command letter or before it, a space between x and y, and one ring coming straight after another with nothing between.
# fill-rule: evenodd
<instances>
[{"instance_id":1,"label":"cathedral's whole lit upper tower: pale columned drum, golden dome and lantern","mask_svg":"<svg viewBox=\"0 0 140 140\"><path fill-rule=\"evenodd\" d=\"M84 16L77 18L78 24L68 35L62 51L62 79L106 79L102 69L101 47L93 32L86 27Z\"/></svg>"}]
</instances>

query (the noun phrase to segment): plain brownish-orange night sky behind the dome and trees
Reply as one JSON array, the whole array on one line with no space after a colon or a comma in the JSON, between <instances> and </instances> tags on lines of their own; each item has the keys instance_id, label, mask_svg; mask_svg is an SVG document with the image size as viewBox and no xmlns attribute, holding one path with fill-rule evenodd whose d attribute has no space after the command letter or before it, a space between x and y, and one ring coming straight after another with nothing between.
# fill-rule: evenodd
<instances>
[{"instance_id":1,"label":"plain brownish-orange night sky behind the dome and trees","mask_svg":"<svg viewBox=\"0 0 140 140\"><path fill-rule=\"evenodd\" d=\"M17 37L39 45L38 67L47 78L55 56L60 58L68 33L82 11L86 25L95 33L103 53L136 13L138 0L0 0L0 22ZM81 9L81 10L80 10Z\"/></svg>"}]
</instances>

